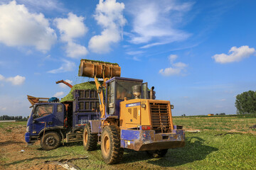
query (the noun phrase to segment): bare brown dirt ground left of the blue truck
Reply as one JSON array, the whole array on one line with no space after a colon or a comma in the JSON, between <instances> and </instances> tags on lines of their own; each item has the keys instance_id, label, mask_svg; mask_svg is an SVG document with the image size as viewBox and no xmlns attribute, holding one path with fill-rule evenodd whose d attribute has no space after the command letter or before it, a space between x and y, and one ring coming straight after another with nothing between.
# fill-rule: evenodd
<instances>
[{"instance_id":1,"label":"bare brown dirt ground left of the blue truck","mask_svg":"<svg viewBox=\"0 0 256 170\"><path fill-rule=\"evenodd\" d=\"M0 130L0 169L64 169L57 164L44 163L47 158L38 155L36 148L26 147L24 132L26 125L9 126Z\"/></svg>"}]
</instances>

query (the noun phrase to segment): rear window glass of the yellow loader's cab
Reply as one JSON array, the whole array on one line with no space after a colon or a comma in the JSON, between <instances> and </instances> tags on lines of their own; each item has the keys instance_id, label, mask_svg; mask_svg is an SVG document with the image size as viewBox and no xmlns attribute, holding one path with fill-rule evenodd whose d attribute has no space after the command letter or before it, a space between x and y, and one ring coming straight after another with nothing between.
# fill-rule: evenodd
<instances>
[{"instance_id":1,"label":"rear window glass of the yellow loader's cab","mask_svg":"<svg viewBox=\"0 0 256 170\"><path fill-rule=\"evenodd\" d=\"M142 83L136 81L117 81L117 100L124 100L124 97L127 97L127 100L135 98L132 94L132 86L135 85L142 85Z\"/></svg>"}]
</instances>

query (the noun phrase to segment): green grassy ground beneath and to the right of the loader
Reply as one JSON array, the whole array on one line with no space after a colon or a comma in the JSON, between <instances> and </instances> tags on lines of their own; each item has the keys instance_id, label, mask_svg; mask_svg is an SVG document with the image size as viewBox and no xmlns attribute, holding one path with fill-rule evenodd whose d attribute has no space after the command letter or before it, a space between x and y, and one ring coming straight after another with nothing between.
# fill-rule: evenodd
<instances>
[{"instance_id":1,"label":"green grassy ground beneath and to the right of the loader","mask_svg":"<svg viewBox=\"0 0 256 170\"><path fill-rule=\"evenodd\" d=\"M166 157L152 159L146 152L124 151L122 162L107 165L102 161L100 145L97 150L86 152L81 142L65 144L51 151L43 151L40 145L31 146L36 159L25 162L4 161L5 167L12 164L38 164L47 160L77 158L73 164L80 169L255 169L256 135L249 129L256 124L256 118L211 117L174 118L176 125L201 132L186 132L186 147L169 149ZM0 125L4 128L4 125Z\"/></svg>"}]
</instances>

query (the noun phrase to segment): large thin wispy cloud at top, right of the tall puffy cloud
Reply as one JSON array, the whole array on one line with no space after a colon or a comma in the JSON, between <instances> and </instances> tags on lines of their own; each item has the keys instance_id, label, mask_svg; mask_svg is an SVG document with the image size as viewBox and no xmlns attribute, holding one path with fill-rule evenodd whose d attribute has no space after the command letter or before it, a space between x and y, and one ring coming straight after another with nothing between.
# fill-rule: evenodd
<instances>
[{"instance_id":1,"label":"large thin wispy cloud at top, right of the tall puffy cloud","mask_svg":"<svg viewBox=\"0 0 256 170\"><path fill-rule=\"evenodd\" d=\"M190 11L192 3L178 1L134 1L128 11L132 13L134 33L131 41L134 44L149 43L142 46L148 48L155 45L186 40L190 34L177 27L184 23L183 16Z\"/></svg>"}]
</instances>

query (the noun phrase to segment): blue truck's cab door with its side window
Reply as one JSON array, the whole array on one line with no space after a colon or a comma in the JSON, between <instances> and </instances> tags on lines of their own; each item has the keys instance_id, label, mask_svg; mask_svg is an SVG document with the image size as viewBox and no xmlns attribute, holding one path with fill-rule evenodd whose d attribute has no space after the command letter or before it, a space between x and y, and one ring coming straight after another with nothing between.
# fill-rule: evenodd
<instances>
[{"instance_id":1,"label":"blue truck's cab door with its side window","mask_svg":"<svg viewBox=\"0 0 256 170\"><path fill-rule=\"evenodd\" d=\"M41 104L34 108L32 115L34 135L38 135L45 126L46 128L53 126L53 108L53 104Z\"/></svg>"}]
</instances>

